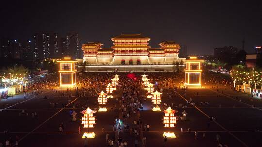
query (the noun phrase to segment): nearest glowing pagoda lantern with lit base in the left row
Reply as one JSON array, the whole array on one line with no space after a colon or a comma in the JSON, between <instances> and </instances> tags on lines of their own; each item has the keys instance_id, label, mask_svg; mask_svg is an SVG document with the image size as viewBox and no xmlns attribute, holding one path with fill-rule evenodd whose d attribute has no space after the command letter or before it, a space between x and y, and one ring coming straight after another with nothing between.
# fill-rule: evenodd
<instances>
[{"instance_id":1,"label":"nearest glowing pagoda lantern with lit base in the left row","mask_svg":"<svg viewBox=\"0 0 262 147\"><path fill-rule=\"evenodd\" d=\"M91 110L89 107L82 111L83 117L81 119L83 128L88 128L88 132L84 132L82 138L95 138L96 134L94 132L89 132L89 128L94 128L94 124L96 124L95 116L93 116L93 113L96 113L96 111Z\"/></svg>"}]
</instances>

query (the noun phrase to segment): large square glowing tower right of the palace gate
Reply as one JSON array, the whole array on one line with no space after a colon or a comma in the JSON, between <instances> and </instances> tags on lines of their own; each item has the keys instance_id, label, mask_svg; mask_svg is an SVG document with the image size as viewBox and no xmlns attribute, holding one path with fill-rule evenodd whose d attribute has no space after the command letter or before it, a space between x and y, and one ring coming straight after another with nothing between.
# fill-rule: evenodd
<instances>
[{"instance_id":1,"label":"large square glowing tower right of the palace gate","mask_svg":"<svg viewBox=\"0 0 262 147\"><path fill-rule=\"evenodd\" d=\"M184 86L186 88L201 88L201 63L204 62L204 60L190 56L190 58L184 60L184 62L186 63Z\"/></svg>"}]
</instances>

